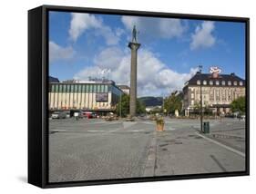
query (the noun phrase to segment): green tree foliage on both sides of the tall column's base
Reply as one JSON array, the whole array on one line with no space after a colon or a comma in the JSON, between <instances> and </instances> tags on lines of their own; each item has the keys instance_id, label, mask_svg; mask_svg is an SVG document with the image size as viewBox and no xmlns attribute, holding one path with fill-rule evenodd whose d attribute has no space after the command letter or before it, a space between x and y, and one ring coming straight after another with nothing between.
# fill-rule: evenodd
<instances>
[{"instance_id":1,"label":"green tree foliage on both sides of the tall column's base","mask_svg":"<svg viewBox=\"0 0 256 194\"><path fill-rule=\"evenodd\" d=\"M121 110L120 110L120 106L121 106ZM128 94L123 93L122 101L118 102L118 104L117 104L116 112L117 112L118 116L120 116L120 111L121 111L122 117L128 116L128 114L129 114L129 95ZM146 106L142 102L139 102L138 100L137 100L136 112L138 114L146 112Z\"/></svg>"}]
</instances>

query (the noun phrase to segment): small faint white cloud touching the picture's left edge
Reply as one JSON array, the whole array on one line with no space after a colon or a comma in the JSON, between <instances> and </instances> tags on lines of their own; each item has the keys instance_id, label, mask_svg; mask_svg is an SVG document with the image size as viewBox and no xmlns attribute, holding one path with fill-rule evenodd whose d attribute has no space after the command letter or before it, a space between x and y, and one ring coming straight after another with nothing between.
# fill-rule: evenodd
<instances>
[{"instance_id":1,"label":"small faint white cloud touching the picture's left edge","mask_svg":"<svg viewBox=\"0 0 256 194\"><path fill-rule=\"evenodd\" d=\"M49 61L54 62L57 60L71 59L75 54L71 46L62 47L52 41L49 42Z\"/></svg>"}]
</instances>

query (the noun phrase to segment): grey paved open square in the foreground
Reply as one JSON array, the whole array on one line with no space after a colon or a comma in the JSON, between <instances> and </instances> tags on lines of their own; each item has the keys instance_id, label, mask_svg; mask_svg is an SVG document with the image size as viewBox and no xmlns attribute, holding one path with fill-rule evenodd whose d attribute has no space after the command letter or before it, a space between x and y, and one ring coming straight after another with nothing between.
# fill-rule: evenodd
<instances>
[{"instance_id":1,"label":"grey paved open square in the foreground","mask_svg":"<svg viewBox=\"0 0 256 194\"><path fill-rule=\"evenodd\" d=\"M245 123L166 119L154 121L50 120L49 181L124 179L245 170Z\"/></svg>"}]
</instances>

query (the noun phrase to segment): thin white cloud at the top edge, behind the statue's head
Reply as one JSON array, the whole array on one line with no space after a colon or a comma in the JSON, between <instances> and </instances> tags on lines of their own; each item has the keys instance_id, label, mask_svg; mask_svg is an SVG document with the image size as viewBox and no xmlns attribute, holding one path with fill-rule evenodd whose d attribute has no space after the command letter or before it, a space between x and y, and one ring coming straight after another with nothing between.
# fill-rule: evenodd
<instances>
[{"instance_id":1,"label":"thin white cloud at the top edge, behind the statue's head","mask_svg":"<svg viewBox=\"0 0 256 194\"><path fill-rule=\"evenodd\" d=\"M146 36L148 39L154 37L170 39L181 36L187 29L179 19L122 16L121 21L129 32L136 25L139 31L138 38Z\"/></svg>"}]
</instances>

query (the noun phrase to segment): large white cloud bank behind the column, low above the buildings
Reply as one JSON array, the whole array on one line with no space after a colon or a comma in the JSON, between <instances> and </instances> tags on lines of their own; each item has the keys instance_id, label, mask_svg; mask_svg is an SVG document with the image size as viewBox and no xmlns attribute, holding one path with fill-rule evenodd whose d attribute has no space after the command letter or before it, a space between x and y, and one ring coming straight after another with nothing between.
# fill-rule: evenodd
<instances>
[{"instance_id":1,"label":"large white cloud bank behind the column, low above the buildings","mask_svg":"<svg viewBox=\"0 0 256 194\"><path fill-rule=\"evenodd\" d=\"M88 76L98 76L104 69L109 69L108 79L118 84L129 85L130 53L118 47L108 47L97 54L94 65L78 72L74 78L87 80ZM177 73L162 63L159 58L148 50L138 51L138 96L170 93L181 90L184 83L196 73L197 69L190 69L189 73Z\"/></svg>"}]
</instances>

